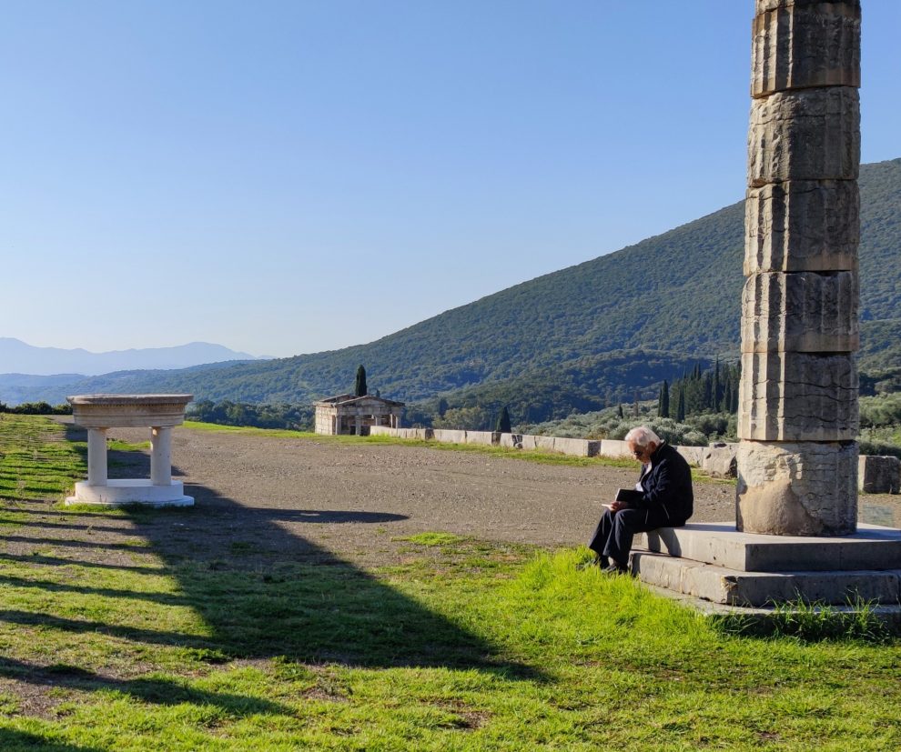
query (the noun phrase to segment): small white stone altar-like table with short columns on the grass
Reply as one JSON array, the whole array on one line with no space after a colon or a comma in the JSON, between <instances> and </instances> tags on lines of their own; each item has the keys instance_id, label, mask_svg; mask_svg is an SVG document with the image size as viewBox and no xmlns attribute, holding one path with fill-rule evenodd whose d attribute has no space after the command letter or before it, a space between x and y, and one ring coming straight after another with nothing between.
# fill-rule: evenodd
<instances>
[{"instance_id":1,"label":"small white stone altar-like table with short columns on the grass","mask_svg":"<svg viewBox=\"0 0 901 752\"><path fill-rule=\"evenodd\" d=\"M66 504L191 506L182 482L172 480L172 426L185 420L193 395L79 395L67 397L77 426L87 429L87 480ZM109 480L106 429L150 429L150 479Z\"/></svg>"}]
</instances>

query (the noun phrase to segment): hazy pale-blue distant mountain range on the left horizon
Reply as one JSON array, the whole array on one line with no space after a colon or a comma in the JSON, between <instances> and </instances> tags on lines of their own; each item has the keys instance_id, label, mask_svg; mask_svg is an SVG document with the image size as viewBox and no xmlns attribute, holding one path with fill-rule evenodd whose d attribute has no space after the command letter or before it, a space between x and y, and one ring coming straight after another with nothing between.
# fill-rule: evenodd
<instances>
[{"instance_id":1,"label":"hazy pale-blue distant mountain range on the left horizon","mask_svg":"<svg viewBox=\"0 0 901 752\"><path fill-rule=\"evenodd\" d=\"M96 376L138 368L187 368L227 360L256 359L247 353L238 353L208 342L91 353L81 348L66 350L60 347L35 347L20 339L0 337L0 374Z\"/></svg>"}]
</instances>

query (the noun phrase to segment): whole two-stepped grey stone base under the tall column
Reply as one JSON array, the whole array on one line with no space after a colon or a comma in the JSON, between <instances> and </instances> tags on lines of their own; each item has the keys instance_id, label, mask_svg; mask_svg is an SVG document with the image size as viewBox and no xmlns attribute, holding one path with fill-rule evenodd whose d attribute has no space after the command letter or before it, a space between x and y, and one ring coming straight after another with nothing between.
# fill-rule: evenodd
<instances>
[{"instance_id":1,"label":"whole two-stepped grey stone base under the tall column","mask_svg":"<svg viewBox=\"0 0 901 752\"><path fill-rule=\"evenodd\" d=\"M631 567L643 582L715 604L901 604L901 530L889 527L813 538L694 523L636 537L634 548Z\"/></svg>"}]
</instances>

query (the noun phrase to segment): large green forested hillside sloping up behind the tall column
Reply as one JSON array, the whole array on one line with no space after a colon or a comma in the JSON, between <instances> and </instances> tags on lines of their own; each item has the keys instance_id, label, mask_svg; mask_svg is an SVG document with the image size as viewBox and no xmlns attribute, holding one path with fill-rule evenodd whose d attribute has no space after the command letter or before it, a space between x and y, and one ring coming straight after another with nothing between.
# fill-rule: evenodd
<instances>
[{"instance_id":1,"label":"large green forested hillside sloping up behind the tall column","mask_svg":"<svg viewBox=\"0 0 901 752\"><path fill-rule=\"evenodd\" d=\"M863 365L867 358L896 360L898 352L901 159L862 165L860 188ZM78 386L80 391L177 390L214 400L305 402L347 390L363 363L370 386L415 400L524 373L552 374L580 358L612 351L650 349L677 360L734 356L743 238L744 202L739 202L367 345L211 370L113 374Z\"/></svg>"}]
</instances>

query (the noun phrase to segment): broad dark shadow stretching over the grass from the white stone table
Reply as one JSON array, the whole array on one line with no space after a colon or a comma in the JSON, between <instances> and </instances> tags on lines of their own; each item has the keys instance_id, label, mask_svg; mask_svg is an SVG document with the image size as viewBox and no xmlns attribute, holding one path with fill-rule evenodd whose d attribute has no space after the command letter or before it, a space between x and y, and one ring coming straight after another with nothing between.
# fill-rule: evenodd
<instances>
[{"instance_id":1,"label":"broad dark shadow stretching over the grass from the white stone table","mask_svg":"<svg viewBox=\"0 0 901 752\"><path fill-rule=\"evenodd\" d=\"M74 426L66 426L66 436L84 440L84 432ZM149 476L147 453L109 455L116 459L116 473ZM177 468L173 472L177 474ZM43 617L42 623L156 644L202 644L236 658L284 657L359 667L460 667L513 679L543 678L532 667L497 657L498 648L451 617L287 529L288 524L352 522L347 526L350 536L359 524L400 516L246 506L201 485L186 486L186 493L195 497L196 506L129 510L150 543L149 548L131 550L162 558L164 570L149 571L177 578L180 597L203 617L209 637L54 617ZM39 557L23 558L49 563L35 562ZM20 624L33 623L33 617L27 612L0 613L0 618Z\"/></svg>"}]
</instances>

